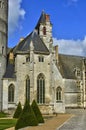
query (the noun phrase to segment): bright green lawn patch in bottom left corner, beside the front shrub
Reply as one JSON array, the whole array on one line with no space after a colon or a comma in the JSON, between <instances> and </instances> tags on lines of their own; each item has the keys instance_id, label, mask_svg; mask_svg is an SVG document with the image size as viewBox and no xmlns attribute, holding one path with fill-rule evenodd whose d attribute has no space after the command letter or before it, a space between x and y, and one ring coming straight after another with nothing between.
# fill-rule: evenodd
<instances>
[{"instance_id":1,"label":"bright green lawn patch in bottom left corner, beside the front shrub","mask_svg":"<svg viewBox=\"0 0 86 130\"><path fill-rule=\"evenodd\" d=\"M0 130L15 126L16 119L0 119Z\"/></svg>"}]
</instances>

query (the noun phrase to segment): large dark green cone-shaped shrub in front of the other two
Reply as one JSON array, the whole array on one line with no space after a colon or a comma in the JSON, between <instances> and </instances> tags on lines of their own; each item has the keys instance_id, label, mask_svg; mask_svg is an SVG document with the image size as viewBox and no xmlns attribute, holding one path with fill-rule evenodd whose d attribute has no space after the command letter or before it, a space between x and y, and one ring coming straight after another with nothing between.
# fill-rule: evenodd
<instances>
[{"instance_id":1,"label":"large dark green cone-shaped shrub in front of the other two","mask_svg":"<svg viewBox=\"0 0 86 130\"><path fill-rule=\"evenodd\" d=\"M24 128L27 126L37 126L38 121L36 119L36 116L29 104L29 102L26 100L24 109L16 123L15 130L18 130L19 128Z\"/></svg>"}]
</instances>

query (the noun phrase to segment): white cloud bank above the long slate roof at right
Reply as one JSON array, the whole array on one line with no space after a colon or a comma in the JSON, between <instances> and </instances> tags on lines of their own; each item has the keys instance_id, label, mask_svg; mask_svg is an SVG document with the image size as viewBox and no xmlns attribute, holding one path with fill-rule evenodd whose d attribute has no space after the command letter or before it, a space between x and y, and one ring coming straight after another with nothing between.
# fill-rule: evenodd
<instances>
[{"instance_id":1,"label":"white cloud bank above the long slate roof at right","mask_svg":"<svg viewBox=\"0 0 86 130\"><path fill-rule=\"evenodd\" d=\"M86 56L86 37L83 40L57 40L53 38L54 45L58 45L59 53Z\"/></svg>"}]
</instances>

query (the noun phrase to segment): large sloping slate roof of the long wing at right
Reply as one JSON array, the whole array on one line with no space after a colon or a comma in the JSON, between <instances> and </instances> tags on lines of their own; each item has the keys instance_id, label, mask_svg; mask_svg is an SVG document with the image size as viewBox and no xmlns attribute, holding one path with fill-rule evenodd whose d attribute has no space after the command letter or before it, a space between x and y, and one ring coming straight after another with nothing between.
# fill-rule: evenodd
<instances>
[{"instance_id":1,"label":"large sloping slate roof of the long wing at right","mask_svg":"<svg viewBox=\"0 0 86 130\"><path fill-rule=\"evenodd\" d=\"M82 71L83 57L59 54L59 69L65 79L76 79L75 68Z\"/></svg>"}]
</instances>

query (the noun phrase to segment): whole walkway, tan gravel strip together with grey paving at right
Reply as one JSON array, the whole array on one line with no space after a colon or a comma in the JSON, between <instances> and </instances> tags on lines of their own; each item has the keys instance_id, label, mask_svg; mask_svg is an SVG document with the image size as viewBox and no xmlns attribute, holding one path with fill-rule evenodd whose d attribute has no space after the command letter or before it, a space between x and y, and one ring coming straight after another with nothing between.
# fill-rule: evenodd
<instances>
[{"instance_id":1,"label":"whole walkway, tan gravel strip together with grey paving at right","mask_svg":"<svg viewBox=\"0 0 86 130\"><path fill-rule=\"evenodd\" d=\"M40 126L22 128L21 130L86 130L86 110L67 109L67 114L58 114Z\"/></svg>"}]
</instances>

